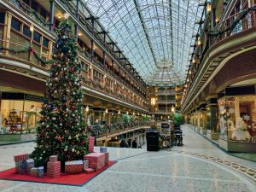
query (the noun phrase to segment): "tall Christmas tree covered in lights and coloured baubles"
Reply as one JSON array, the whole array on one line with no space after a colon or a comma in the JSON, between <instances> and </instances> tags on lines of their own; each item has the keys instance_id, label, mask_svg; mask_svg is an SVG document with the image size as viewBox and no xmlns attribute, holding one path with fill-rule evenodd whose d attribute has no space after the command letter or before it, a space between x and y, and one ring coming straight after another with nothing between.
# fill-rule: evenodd
<instances>
[{"instance_id":1,"label":"tall Christmas tree covered in lights and coloured baubles","mask_svg":"<svg viewBox=\"0 0 256 192\"><path fill-rule=\"evenodd\" d=\"M46 83L37 146L31 154L36 166L45 166L50 155L57 154L63 163L66 160L82 160L88 153L81 63L73 29L70 20L63 20L56 29L53 64Z\"/></svg>"}]
</instances>

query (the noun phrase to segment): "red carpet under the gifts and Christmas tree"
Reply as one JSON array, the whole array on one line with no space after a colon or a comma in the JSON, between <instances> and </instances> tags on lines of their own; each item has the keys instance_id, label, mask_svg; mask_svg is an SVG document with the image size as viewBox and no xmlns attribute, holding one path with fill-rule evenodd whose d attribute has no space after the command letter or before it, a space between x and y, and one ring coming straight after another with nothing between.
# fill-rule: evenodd
<instances>
[{"instance_id":1,"label":"red carpet under the gifts and Christmas tree","mask_svg":"<svg viewBox=\"0 0 256 192\"><path fill-rule=\"evenodd\" d=\"M79 174L65 174L61 173L61 177L49 178L44 175L44 178L31 177L29 175L20 175L15 173L15 168L0 172L0 179L12 180L12 181L25 181L25 182L38 182L38 183L53 183L53 184L67 184L75 186L83 186L85 183L89 182L93 177L96 177L99 173L108 169L108 167L113 166L116 161L109 160L108 166L103 167L98 172L93 172L90 174L79 173Z\"/></svg>"}]
</instances>

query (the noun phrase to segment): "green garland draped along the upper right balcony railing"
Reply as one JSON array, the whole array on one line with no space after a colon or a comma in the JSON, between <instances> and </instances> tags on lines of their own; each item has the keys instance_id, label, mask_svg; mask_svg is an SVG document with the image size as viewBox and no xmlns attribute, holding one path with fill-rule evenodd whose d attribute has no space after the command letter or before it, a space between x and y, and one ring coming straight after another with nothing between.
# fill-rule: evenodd
<instances>
[{"instance_id":1,"label":"green garland draped along the upper right balcony railing","mask_svg":"<svg viewBox=\"0 0 256 192\"><path fill-rule=\"evenodd\" d=\"M226 27L223 31L218 31L218 27L215 27L215 29L213 29L212 31L209 32L209 35L212 37L216 37L218 35L222 35L224 32L233 30L236 27L236 25L240 22L240 20L244 19L250 11L255 11L255 10L256 10L256 5L254 5L251 8L246 9L245 11L243 11L242 13L239 14L239 16L236 18L236 20L232 23L231 26ZM220 24L218 24L218 25L220 25Z\"/></svg>"}]
</instances>

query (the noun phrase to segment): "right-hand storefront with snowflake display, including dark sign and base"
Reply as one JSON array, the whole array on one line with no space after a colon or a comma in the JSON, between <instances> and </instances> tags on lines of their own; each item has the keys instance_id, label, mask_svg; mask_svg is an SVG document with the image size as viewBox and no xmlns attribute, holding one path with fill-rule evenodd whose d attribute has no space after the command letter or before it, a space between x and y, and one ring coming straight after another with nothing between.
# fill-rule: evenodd
<instances>
[{"instance_id":1,"label":"right-hand storefront with snowflake display, including dark sign and base","mask_svg":"<svg viewBox=\"0 0 256 192\"><path fill-rule=\"evenodd\" d=\"M218 99L218 112L220 146L229 151L256 151L255 86L225 89Z\"/></svg>"}]
</instances>

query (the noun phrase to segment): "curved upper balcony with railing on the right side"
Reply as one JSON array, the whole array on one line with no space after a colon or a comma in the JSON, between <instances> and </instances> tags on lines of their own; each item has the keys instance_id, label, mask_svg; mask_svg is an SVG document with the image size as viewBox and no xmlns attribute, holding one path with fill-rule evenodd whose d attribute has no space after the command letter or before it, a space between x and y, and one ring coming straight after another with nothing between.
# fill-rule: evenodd
<instances>
[{"instance_id":1,"label":"curved upper balcony with railing on the right side","mask_svg":"<svg viewBox=\"0 0 256 192\"><path fill-rule=\"evenodd\" d=\"M230 1L240 3L240 1ZM183 110L189 108L201 91L209 84L217 70L224 67L234 55L255 49L256 45L256 5L230 6L214 28L209 29L211 13L201 28L201 41L195 41L194 53L187 75L187 89L183 95ZM236 7L238 8L238 7ZM240 8L240 7L239 7Z\"/></svg>"}]
</instances>

